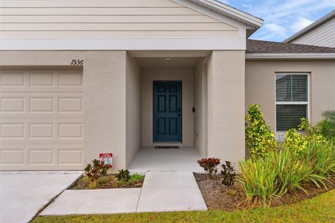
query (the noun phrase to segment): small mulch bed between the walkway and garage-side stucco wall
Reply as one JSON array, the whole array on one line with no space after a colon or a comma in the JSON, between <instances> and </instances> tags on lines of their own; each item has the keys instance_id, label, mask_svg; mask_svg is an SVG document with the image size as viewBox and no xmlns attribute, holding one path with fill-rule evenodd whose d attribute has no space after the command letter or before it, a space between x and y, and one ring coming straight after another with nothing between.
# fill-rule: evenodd
<instances>
[{"instance_id":1,"label":"small mulch bed between the walkway and garage-side stucco wall","mask_svg":"<svg viewBox=\"0 0 335 223\"><path fill-rule=\"evenodd\" d=\"M117 180L115 174L100 178L96 187L90 187L91 180L87 176L79 178L70 190L93 190L93 189L112 189L112 188L137 188L142 187L144 179L136 180L135 182L125 182Z\"/></svg>"}]
</instances>

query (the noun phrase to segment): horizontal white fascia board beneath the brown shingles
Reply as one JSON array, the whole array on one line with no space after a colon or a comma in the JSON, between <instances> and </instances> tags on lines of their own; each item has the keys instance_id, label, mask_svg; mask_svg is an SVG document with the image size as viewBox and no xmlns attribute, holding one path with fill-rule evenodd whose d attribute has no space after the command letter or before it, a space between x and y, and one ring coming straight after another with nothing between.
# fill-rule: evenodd
<instances>
[{"instance_id":1,"label":"horizontal white fascia board beneath the brown shingles","mask_svg":"<svg viewBox=\"0 0 335 223\"><path fill-rule=\"evenodd\" d=\"M335 53L310 54L246 54L247 60L275 60L275 59L335 59Z\"/></svg>"}]
</instances>

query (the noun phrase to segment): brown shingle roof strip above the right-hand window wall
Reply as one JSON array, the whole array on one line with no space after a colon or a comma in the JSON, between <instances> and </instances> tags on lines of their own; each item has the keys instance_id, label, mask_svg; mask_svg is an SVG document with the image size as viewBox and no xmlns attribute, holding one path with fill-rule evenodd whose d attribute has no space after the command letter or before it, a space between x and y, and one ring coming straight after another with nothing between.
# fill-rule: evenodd
<instances>
[{"instance_id":1,"label":"brown shingle roof strip above the right-hand window wall","mask_svg":"<svg viewBox=\"0 0 335 223\"><path fill-rule=\"evenodd\" d=\"M308 54L335 53L335 48L317 47L294 43L276 43L262 40L246 40L247 54Z\"/></svg>"}]
</instances>

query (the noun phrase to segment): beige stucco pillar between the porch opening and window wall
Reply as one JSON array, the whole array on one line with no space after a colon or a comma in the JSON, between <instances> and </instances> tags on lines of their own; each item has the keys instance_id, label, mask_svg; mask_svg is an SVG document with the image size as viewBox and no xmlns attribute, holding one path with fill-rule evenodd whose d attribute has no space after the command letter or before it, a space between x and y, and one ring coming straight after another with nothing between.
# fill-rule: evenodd
<instances>
[{"instance_id":1,"label":"beige stucco pillar between the porch opening and window wall","mask_svg":"<svg viewBox=\"0 0 335 223\"><path fill-rule=\"evenodd\" d=\"M207 66L207 154L237 163L245 155L245 53L214 51Z\"/></svg>"}]
</instances>

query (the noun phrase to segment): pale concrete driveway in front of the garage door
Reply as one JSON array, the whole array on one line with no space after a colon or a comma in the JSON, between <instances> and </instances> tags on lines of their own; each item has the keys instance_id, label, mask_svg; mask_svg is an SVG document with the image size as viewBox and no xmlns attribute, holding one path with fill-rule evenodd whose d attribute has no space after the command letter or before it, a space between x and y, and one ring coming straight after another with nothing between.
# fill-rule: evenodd
<instances>
[{"instance_id":1,"label":"pale concrete driveway in front of the garage door","mask_svg":"<svg viewBox=\"0 0 335 223\"><path fill-rule=\"evenodd\" d=\"M0 171L0 222L29 222L82 171Z\"/></svg>"}]
</instances>

